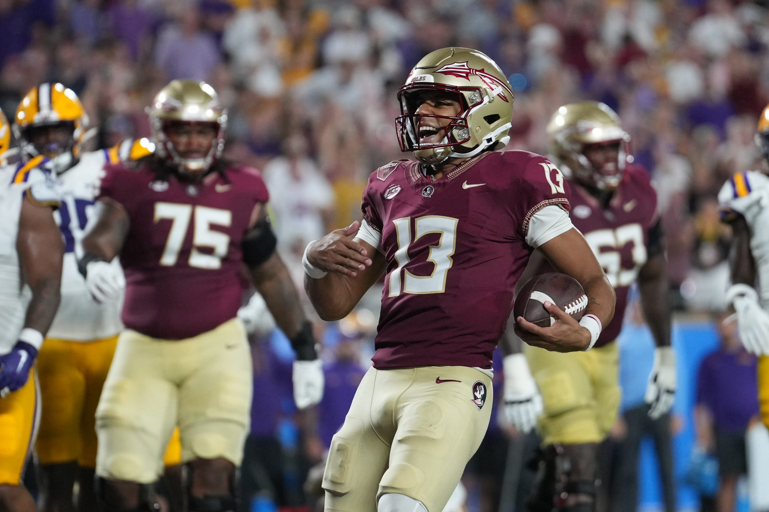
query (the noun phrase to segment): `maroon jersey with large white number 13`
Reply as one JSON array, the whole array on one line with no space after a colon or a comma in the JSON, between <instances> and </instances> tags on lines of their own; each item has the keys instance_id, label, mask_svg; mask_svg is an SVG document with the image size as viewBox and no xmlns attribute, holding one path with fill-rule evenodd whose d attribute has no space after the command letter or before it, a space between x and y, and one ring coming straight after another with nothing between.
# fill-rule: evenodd
<instances>
[{"instance_id":1,"label":"maroon jersey with large white number 13","mask_svg":"<svg viewBox=\"0 0 769 512\"><path fill-rule=\"evenodd\" d=\"M515 282L532 248L529 220L568 191L544 157L473 157L439 180L399 160L371 174L363 216L387 260L375 368L491 368Z\"/></svg>"}]
</instances>

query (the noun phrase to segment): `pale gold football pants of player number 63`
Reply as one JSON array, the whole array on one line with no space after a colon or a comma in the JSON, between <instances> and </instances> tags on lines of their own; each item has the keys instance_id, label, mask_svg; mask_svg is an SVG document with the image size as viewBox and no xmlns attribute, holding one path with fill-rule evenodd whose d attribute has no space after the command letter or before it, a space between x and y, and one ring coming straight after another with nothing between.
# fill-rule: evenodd
<instances>
[{"instance_id":1,"label":"pale gold football pants of player number 63","mask_svg":"<svg viewBox=\"0 0 769 512\"><path fill-rule=\"evenodd\" d=\"M603 441L619 411L617 344L568 353L524 345L524 353L544 404L543 444Z\"/></svg>"}]
</instances>

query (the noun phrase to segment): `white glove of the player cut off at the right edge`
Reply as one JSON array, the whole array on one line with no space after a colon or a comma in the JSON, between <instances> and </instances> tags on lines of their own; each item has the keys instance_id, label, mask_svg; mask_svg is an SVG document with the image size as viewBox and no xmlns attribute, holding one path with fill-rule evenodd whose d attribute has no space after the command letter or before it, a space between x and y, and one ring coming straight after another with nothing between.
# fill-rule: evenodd
<instances>
[{"instance_id":1,"label":"white glove of the player cut off at the right edge","mask_svg":"<svg viewBox=\"0 0 769 512\"><path fill-rule=\"evenodd\" d=\"M769 355L769 313L758 303L756 290L746 284L736 284L726 292L727 302L734 306L737 317L737 329L747 352L757 355Z\"/></svg>"}]
</instances>

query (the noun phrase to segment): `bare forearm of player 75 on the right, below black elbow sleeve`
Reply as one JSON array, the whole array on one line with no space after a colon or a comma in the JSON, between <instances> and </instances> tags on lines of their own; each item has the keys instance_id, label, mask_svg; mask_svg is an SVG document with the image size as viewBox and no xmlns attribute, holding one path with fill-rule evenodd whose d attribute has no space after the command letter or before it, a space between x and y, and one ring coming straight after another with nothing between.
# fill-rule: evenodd
<instances>
[{"instance_id":1,"label":"bare forearm of player 75 on the right, below black elbow sleeve","mask_svg":"<svg viewBox=\"0 0 769 512\"><path fill-rule=\"evenodd\" d=\"M249 272L255 288L264 297L267 308L275 318L275 324L288 339L294 339L307 319L294 281L281 257L273 253L265 263L249 269Z\"/></svg>"}]
</instances>

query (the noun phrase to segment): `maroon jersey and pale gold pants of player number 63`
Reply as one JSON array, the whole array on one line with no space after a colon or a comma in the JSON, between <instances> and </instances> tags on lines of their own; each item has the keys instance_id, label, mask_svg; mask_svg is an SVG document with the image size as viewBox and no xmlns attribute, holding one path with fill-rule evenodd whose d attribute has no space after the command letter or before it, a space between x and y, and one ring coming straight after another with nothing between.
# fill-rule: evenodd
<instances>
[{"instance_id":1,"label":"maroon jersey and pale gold pants of player number 63","mask_svg":"<svg viewBox=\"0 0 769 512\"><path fill-rule=\"evenodd\" d=\"M524 346L541 392L544 444L600 442L618 414L618 351L628 292L647 260L649 233L657 221L657 193L643 167L628 164L608 206L569 181L571 221L593 249L614 286L614 318L589 352L558 353ZM553 272L544 261L537 273Z\"/></svg>"}]
</instances>

